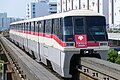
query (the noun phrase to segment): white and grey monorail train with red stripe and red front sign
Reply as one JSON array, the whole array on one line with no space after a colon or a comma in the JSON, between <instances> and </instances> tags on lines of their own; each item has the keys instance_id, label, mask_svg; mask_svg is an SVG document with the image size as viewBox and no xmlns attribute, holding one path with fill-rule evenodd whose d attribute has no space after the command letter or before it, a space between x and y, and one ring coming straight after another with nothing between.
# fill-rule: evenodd
<instances>
[{"instance_id":1,"label":"white and grey monorail train with red stripe and red front sign","mask_svg":"<svg viewBox=\"0 0 120 80\"><path fill-rule=\"evenodd\" d=\"M107 57L105 17L90 10L72 10L13 22L10 26L13 42L65 78L72 77L81 56Z\"/></svg>"}]
</instances>

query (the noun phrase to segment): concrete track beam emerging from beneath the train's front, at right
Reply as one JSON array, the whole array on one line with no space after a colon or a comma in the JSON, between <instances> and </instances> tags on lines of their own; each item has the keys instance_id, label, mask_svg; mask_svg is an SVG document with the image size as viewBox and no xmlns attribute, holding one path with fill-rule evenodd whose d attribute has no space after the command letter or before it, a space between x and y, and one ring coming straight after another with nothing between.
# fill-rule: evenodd
<instances>
[{"instance_id":1,"label":"concrete track beam emerging from beneath the train's front, at right","mask_svg":"<svg viewBox=\"0 0 120 80\"><path fill-rule=\"evenodd\" d=\"M120 80L120 65L97 58L81 58L78 71L95 80Z\"/></svg>"}]
</instances>

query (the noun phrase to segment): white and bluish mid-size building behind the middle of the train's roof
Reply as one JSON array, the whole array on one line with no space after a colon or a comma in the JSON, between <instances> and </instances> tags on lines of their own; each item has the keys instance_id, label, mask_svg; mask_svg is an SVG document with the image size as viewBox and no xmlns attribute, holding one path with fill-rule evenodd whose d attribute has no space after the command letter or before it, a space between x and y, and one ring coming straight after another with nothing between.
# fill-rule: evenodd
<instances>
[{"instance_id":1,"label":"white and bluish mid-size building behind the middle of the train's roof","mask_svg":"<svg viewBox=\"0 0 120 80\"><path fill-rule=\"evenodd\" d=\"M57 13L57 3L49 2L49 0L37 0L37 2L27 5L26 13L27 19Z\"/></svg>"}]
</instances>

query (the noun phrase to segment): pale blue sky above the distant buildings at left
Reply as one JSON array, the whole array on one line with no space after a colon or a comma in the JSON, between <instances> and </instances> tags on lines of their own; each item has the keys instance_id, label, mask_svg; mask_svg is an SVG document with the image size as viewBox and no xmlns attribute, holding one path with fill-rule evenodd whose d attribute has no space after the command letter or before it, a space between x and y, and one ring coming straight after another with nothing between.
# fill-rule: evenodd
<instances>
[{"instance_id":1,"label":"pale blue sky above the distant buildings at left","mask_svg":"<svg viewBox=\"0 0 120 80\"><path fill-rule=\"evenodd\" d=\"M8 17L25 18L27 4L35 1L36 0L0 0L0 13L7 12Z\"/></svg>"}]
</instances>

